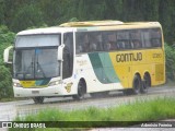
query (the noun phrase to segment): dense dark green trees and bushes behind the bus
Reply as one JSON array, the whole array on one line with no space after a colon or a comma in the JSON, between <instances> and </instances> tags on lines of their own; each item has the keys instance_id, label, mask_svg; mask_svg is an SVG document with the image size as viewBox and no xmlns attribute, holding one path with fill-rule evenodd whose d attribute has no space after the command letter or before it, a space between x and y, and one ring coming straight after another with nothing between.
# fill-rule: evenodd
<instances>
[{"instance_id":1,"label":"dense dark green trees and bushes behind the bus","mask_svg":"<svg viewBox=\"0 0 175 131\"><path fill-rule=\"evenodd\" d=\"M174 7L174 0L0 0L0 98L12 96L11 67L2 62L2 55L13 43L14 33L74 20L159 21L168 43L167 78L175 79Z\"/></svg>"}]
</instances>

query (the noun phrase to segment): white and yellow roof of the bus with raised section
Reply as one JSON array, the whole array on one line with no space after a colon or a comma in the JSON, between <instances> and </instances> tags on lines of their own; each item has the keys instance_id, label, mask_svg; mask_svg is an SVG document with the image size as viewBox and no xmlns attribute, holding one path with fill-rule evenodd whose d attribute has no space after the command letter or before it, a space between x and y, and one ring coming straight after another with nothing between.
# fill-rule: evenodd
<instances>
[{"instance_id":1,"label":"white and yellow roof of the bus with raised section","mask_svg":"<svg viewBox=\"0 0 175 131\"><path fill-rule=\"evenodd\" d=\"M121 21L88 21L88 22L69 22L55 27L27 29L18 33L18 35L33 34L57 34L66 32L83 32L83 31L104 31L104 29L129 29L129 28L149 28L161 27L159 22L130 22Z\"/></svg>"}]
</instances>

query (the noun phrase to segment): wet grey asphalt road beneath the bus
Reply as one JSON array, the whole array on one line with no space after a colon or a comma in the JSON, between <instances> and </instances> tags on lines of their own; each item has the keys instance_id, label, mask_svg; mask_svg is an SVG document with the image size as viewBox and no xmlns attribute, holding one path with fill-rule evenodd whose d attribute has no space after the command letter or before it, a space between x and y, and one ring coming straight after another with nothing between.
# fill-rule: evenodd
<instances>
[{"instance_id":1,"label":"wet grey asphalt road beneath the bus","mask_svg":"<svg viewBox=\"0 0 175 131\"><path fill-rule=\"evenodd\" d=\"M71 97L46 98L44 104L34 104L33 99L0 103L0 121L12 121L16 116L24 117L30 114L36 114L46 108L58 108L63 110L73 110L95 106L98 108L108 108L135 102L136 99L151 99L155 97L175 97L175 86L151 87L147 94L126 96L122 92L112 92L104 98L92 98L89 94L83 100L73 100Z\"/></svg>"}]
</instances>

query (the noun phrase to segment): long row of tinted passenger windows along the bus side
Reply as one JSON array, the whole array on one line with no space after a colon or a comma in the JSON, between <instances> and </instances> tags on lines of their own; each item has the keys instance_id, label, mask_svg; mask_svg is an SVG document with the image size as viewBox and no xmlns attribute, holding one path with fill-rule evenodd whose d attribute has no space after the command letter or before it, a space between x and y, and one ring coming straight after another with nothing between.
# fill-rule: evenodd
<instances>
[{"instance_id":1,"label":"long row of tinted passenger windows along the bus side","mask_svg":"<svg viewBox=\"0 0 175 131\"><path fill-rule=\"evenodd\" d=\"M160 28L77 33L77 53L155 48L162 46Z\"/></svg>"}]
</instances>

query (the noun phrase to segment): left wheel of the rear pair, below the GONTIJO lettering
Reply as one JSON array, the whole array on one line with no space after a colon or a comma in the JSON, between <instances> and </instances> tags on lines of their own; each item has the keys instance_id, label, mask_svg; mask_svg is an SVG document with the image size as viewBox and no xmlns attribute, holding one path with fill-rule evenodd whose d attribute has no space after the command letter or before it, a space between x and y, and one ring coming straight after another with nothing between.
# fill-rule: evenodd
<instances>
[{"instance_id":1,"label":"left wheel of the rear pair, below the GONTIJO lettering","mask_svg":"<svg viewBox=\"0 0 175 131\"><path fill-rule=\"evenodd\" d=\"M139 75L135 75L133 82L132 82L132 92L133 94L139 94L141 88L141 79Z\"/></svg>"}]
</instances>

